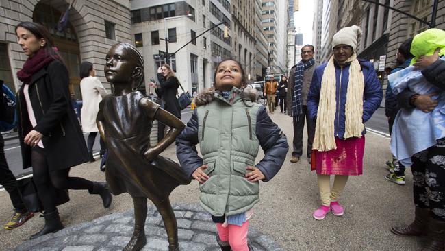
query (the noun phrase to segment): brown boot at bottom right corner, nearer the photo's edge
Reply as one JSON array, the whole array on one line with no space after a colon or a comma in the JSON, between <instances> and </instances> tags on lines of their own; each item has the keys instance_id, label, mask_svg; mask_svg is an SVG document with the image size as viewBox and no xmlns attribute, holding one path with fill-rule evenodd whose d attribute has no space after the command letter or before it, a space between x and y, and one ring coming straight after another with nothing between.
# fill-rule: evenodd
<instances>
[{"instance_id":1,"label":"brown boot at bottom right corner, nearer the photo's edge","mask_svg":"<svg viewBox=\"0 0 445 251\"><path fill-rule=\"evenodd\" d=\"M428 222L428 240L422 251L445 250L445 222L430 217Z\"/></svg>"}]
</instances>

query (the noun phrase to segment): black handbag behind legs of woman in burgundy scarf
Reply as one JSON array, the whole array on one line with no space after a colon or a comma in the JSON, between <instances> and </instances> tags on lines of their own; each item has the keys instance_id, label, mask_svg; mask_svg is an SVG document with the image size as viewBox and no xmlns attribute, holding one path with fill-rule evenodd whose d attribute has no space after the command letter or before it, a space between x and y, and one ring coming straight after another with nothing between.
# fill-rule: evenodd
<instances>
[{"instance_id":1,"label":"black handbag behind legs of woman in burgundy scarf","mask_svg":"<svg viewBox=\"0 0 445 251\"><path fill-rule=\"evenodd\" d=\"M30 212L40 212L43 211L42 202L38 198L36 184L32 177L23 178L17 180L18 191L21 195L23 204ZM70 195L68 194L68 189L56 189L55 191L55 205L59 206L70 201Z\"/></svg>"}]
</instances>

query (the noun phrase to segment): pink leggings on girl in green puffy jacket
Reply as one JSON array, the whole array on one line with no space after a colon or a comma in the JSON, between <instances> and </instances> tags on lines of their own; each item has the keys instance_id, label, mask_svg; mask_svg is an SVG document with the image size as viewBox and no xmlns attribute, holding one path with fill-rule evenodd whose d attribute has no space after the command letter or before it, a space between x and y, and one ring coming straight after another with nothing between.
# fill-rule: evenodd
<instances>
[{"instance_id":1,"label":"pink leggings on girl in green puffy jacket","mask_svg":"<svg viewBox=\"0 0 445 251\"><path fill-rule=\"evenodd\" d=\"M217 223L219 239L221 241L229 241L232 251L249 251L247 247L247 230L249 230L249 220L241 226L229 224L223 227L223 224Z\"/></svg>"}]
</instances>

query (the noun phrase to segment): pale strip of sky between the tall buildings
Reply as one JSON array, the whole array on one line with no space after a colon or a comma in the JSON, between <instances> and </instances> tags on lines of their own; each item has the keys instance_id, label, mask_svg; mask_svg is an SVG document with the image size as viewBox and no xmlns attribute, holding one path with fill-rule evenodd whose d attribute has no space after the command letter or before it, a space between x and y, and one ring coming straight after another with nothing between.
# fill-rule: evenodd
<instances>
[{"instance_id":1,"label":"pale strip of sky between the tall buildings","mask_svg":"<svg viewBox=\"0 0 445 251\"><path fill-rule=\"evenodd\" d=\"M300 8L294 12L296 32L303 33L303 45L312 44L312 20L314 0L300 0Z\"/></svg>"}]
</instances>

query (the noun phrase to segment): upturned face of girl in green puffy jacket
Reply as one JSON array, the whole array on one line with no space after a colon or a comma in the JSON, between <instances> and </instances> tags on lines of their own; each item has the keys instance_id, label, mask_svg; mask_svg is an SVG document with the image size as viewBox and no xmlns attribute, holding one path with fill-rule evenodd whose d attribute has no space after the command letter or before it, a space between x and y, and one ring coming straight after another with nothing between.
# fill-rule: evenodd
<instances>
[{"instance_id":1,"label":"upturned face of girl in green puffy jacket","mask_svg":"<svg viewBox=\"0 0 445 251\"><path fill-rule=\"evenodd\" d=\"M232 60L221 62L216 69L215 88L219 91L230 91L233 86L242 87L241 67Z\"/></svg>"}]
</instances>

